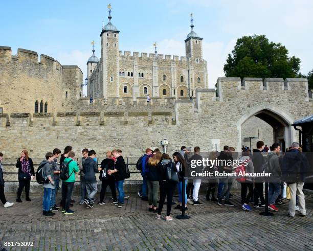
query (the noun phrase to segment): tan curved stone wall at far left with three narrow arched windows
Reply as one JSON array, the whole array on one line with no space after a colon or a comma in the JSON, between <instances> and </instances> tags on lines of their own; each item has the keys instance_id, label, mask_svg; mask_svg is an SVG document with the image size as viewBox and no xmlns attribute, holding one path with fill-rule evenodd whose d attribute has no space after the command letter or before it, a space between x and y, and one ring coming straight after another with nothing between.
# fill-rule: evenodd
<instances>
[{"instance_id":1,"label":"tan curved stone wall at far left with three narrow arched windows","mask_svg":"<svg viewBox=\"0 0 313 251\"><path fill-rule=\"evenodd\" d=\"M47 103L47 112L64 111L67 99L80 97L82 72L76 65L61 65L47 55L0 47L0 107L4 113L34 112L35 102ZM44 108L43 110L44 111Z\"/></svg>"}]
</instances>

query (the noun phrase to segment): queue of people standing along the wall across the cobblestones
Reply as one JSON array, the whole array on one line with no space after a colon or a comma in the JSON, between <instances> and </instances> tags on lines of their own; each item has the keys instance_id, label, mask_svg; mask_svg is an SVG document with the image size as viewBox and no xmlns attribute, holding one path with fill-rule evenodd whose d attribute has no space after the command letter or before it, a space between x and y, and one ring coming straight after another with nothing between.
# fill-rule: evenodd
<instances>
[{"instance_id":1,"label":"queue of people standing along the wall across the cobblestones","mask_svg":"<svg viewBox=\"0 0 313 251\"><path fill-rule=\"evenodd\" d=\"M279 157L281 152L280 145L274 143L269 149L267 161L262 152L266 145L262 141L257 142L256 149L251 152L247 147L243 147L240 153L240 160L245 163L245 172L254 173L264 171L267 166L268 171L273 173L273 177L269 182L269 199L268 209L278 211L278 205L284 204L282 200L282 191L284 184L290 190L290 200L288 206L288 216L294 217L295 211L300 211L300 216L305 216L305 199L302 192L305 175L304 158L301 157L301 148L299 143L294 142L284 157ZM166 202L165 220L172 220L171 209L173 195L177 189L178 203L174 209L188 210L188 205L201 206L203 203L199 201L198 194L202 184L200 178L185 178L185 171L191 161L201 160L200 148L194 147L194 153L191 155L191 148L182 146L180 152L174 152L172 157L166 153L162 153L159 149L145 150L145 154L141 156L137 162L137 169L143 178L141 190L138 195L142 200L148 201L148 212L155 213L157 219L161 219L163 206ZM217 159L233 159L234 147L224 146L223 151L217 154L213 153L211 158L215 156ZM100 191L99 205L105 204L104 197L107 187L110 188L113 203L117 208L121 208L124 200L129 196L124 193L124 180L129 178L129 170L122 156L122 151L115 149L106 152L106 158L98 167L95 150L83 149L82 156L76 162L75 153L71 146L66 146L63 154L56 148L52 152L46 153L46 158L40 163L38 170L42 169L43 182L43 199L42 214L44 216L53 216L54 212L61 210L65 215L74 214L71 209L73 203L72 193L75 184L75 173L80 175L80 205L86 208L94 208L97 188L96 173L99 173L99 179L102 186ZM4 176L1 161L3 154L0 152L0 199L5 208L13 206L6 200L4 194ZM267 163L266 163L267 162ZM299 169L300 167L300 169ZM27 150L21 152L21 156L17 159L16 168L18 168L18 190L16 202L21 203L21 194L25 189L25 200L30 199L30 182L35 178L35 170L32 159L28 155ZM234 169L229 166L218 165L214 167L219 172L230 173ZM37 172L38 172L37 170ZM296 176L290 177L290 173L296 173ZM37 174L36 174L37 175ZM261 177L244 177L237 179L241 185L241 207L245 211L251 211L250 203L257 209L265 208L264 199L264 180ZM208 201L217 202L219 206L233 207L231 202L233 177L211 178L208 184L206 199ZM57 192L61 188L61 201L56 202ZM217 189L217 193L215 190ZM117 192L118 195L117 195ZM160 194L160 196L159 196Z\"/></svg>"}]
</instances>

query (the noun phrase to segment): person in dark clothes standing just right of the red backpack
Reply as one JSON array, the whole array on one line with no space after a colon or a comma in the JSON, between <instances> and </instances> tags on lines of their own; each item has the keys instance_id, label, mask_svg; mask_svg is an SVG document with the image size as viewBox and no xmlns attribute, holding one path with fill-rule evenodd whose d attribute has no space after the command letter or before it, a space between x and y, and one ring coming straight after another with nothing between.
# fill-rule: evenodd
<instances>
[{"instance_id":1,"label":"person in dark clothes standing just right of the red backpack","mask_svg":"<svg viewBox=\"0 0 313 251\"><path fill-rule=\"evenodd\" d=\"M253 149L252 162L255 173L262 173L264 171L264 157L262 155L262 151L264 150L264 142L258 141L257 148ZM254 180L254 208L265 208L265 199L263 193L263 178L256 177ZM260 202L259 203L259 198Z\"/></svg>"}]
</instances>

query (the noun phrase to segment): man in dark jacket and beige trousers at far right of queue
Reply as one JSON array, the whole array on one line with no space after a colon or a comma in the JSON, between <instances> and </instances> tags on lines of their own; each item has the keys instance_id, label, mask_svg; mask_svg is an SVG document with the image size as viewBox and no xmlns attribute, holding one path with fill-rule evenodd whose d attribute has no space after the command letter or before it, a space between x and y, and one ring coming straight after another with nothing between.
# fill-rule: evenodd
<instances>
[{"instance_id":1,"label":"man in dark jacket and beige trousers at far right of queue","mask_svg":"<svg viewBox=\"0 0 313 251\"><path fill-rule=\"evenodd\" d=\"M290 200L289 200L289 217L295 217L296 197L298 196L298 204L300 209L300 216L305 216L305 199L302 192L304 185L304 173L307 170L307 159L299 151L299 143L293 142L292 149L286 152L283 158L282 173L283 178L287 182L287 186L290 188Z\"/></svg>"}]
</instances>

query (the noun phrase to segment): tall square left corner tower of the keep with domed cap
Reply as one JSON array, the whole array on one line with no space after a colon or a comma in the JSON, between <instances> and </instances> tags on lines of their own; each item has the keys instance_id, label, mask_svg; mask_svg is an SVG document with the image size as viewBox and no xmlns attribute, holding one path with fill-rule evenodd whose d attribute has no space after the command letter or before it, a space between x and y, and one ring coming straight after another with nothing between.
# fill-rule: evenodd
<instances>
[{"instance_id":1,"label":"tall square left corner tower of the keep with domed cap","mask_svg":"<svg viewBox=\"0 0 313 251\"><path fill-rule=\"evenodd\" d=\"M111 23L111 9L109 9L108 23L102 28L101 37L101 60L102 81L99 86L99 97L119 97L119 33Z\"/></svg>"}]
</instances>

